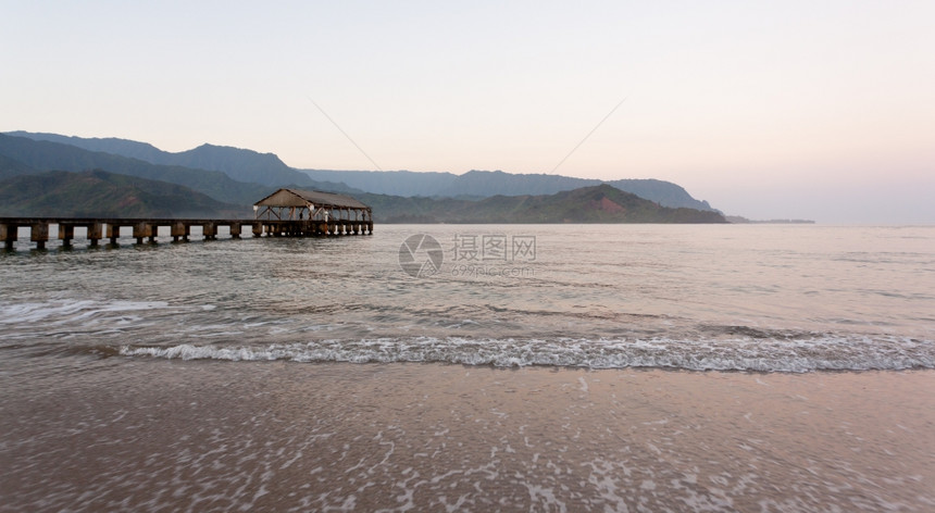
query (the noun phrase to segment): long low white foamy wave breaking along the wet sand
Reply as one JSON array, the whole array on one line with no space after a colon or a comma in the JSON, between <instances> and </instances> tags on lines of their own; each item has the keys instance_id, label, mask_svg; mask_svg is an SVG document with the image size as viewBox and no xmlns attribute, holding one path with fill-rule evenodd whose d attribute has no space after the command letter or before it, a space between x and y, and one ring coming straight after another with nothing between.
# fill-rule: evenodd
<instances>
[{"instance_id":1,"label":"long low white foamy wave breaking along the wet sand","mask_svg":"<svg viewBox=\"0 0 935 513\"><path fill-rule=\"evenodd\" d=\"M124 346L124 356L182 360L395 363L520 367L676 368L805 373L935 368L935 341L908 338L518 340L431 338L322 340L269 346Z\"/></svg>"}]
</instances>

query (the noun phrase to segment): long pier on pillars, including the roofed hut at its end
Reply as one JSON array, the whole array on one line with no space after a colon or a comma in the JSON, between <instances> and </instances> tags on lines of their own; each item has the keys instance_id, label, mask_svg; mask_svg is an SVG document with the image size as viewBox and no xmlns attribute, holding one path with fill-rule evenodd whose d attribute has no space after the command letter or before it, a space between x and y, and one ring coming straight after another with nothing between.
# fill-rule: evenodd
<instances>
[{"instance_id":1,"label":"long pier on pillars, including the roofed hut at its end","mask_svg":"<svg viewBox=\"0 0 935 513\"><path fill-rule=\"evenodd\" d=\"M253 212L252 220L0 217L0 241L4 249L12 250L20 229L29 228L29 241L36 243L36 249L45 249L53 225L64 248L72 246L76 234L84 235L90 247L101 240L116 245L127 230L132 230L138 245L155 242L160 228L169 233L173 242L187 242L192 227L201 228L204 240L216 239L219 228L226 228L230 238L239 239L247 226L253 237L373 235L371 208L342 195L279 189L258 201Z\"/></svg>"}]
</instances>

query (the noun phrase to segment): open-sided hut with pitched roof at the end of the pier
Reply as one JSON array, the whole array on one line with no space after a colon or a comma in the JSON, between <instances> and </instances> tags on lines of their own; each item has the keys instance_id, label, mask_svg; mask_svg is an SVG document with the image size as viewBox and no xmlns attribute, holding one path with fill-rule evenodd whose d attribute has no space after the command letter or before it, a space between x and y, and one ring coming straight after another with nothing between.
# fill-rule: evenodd
<instances>
[{"instance_id":1,"label":"open-sided hut with pitched roof at the end of the pier","mask_svg":"<svg viewBox=\"0 0 935 513\"><path fill-rule=\"evenodd\" d=\"M279 189L254 203L253 212L257 220L297 230L296 235L373 233L371 208L345 195Z\"/></svg>"}]
</instances>

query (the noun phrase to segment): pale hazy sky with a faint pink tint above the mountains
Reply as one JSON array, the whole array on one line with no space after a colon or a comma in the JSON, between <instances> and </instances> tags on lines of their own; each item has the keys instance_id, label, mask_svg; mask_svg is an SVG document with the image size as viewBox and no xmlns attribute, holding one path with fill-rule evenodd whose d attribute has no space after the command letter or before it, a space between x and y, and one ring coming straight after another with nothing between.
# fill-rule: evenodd
<instances>
[{"instance_id":1,"label":"pale hazy sky with a faint pink tint above the mountains","mask_svg":"<svg viewBox=\"0 0 935 513\"><path fill-rule=\"evenodd\" d=\"M0 12L2 132L375 168L317 103L382 170L659 178L753 218L935 223L932 0Z\"/></svg>"}]
</instances>

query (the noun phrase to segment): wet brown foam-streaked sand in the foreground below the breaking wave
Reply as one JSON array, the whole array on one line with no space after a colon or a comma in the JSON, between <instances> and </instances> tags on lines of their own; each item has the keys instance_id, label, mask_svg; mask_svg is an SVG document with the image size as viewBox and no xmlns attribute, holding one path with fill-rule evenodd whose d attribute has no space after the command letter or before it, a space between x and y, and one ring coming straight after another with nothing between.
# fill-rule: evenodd
<instances>
[{"instance_id":1,"label":"wet brown foam-streaked sand in the foreground below the breaking wave","mask_svg":"<svg viewBox=\"0 0 935 513\"><path fill-rule=\"evenodd\" d=\"M932 371L2 370L0 511L935 509Z\"/></svg>"}]
</instances>

